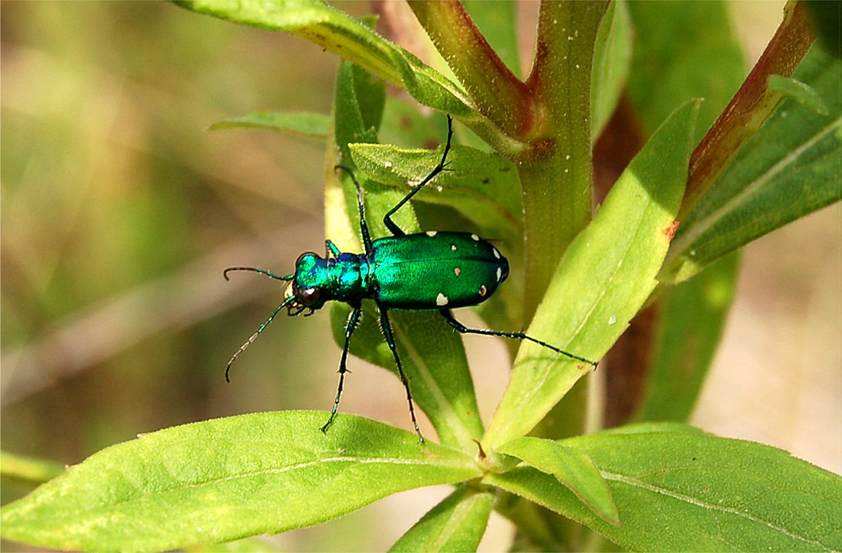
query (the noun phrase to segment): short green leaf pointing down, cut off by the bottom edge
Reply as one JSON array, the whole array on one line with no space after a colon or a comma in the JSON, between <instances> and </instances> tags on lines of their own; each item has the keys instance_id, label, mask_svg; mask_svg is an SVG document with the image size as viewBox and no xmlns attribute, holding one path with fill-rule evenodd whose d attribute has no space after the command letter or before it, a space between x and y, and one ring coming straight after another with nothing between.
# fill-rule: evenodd
<instances>
[{"instance_id":1,"label":"short green leaf pointing down, cut off by the bottom edge","mask_svg":"<svg viewBox=\"0 0 842 553\"><path fill-rule=\"evenodd\" d=\"M492 492L461 487L415 523L390 551L476 551L493 504Z\"/></svg>"}]
</instances>

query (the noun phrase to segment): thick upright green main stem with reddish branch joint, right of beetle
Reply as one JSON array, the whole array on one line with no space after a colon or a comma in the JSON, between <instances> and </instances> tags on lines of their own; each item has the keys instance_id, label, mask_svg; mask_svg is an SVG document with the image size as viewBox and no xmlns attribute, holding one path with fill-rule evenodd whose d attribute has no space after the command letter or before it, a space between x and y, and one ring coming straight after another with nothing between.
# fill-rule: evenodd
<instances>
[{"instance_id":1,"label":"thick upright green main stem with reddish branch joint, right of beetle","mask_svg":"<svg viewBox=\"0 0 842 553\"><path fill-rule=\"evenodd\" d=\"M515 161L525 211L525 320L593 209L590 74L604 2L544 2L527 85L538 109L530 147Z\"/></svg>"}]
</instances>

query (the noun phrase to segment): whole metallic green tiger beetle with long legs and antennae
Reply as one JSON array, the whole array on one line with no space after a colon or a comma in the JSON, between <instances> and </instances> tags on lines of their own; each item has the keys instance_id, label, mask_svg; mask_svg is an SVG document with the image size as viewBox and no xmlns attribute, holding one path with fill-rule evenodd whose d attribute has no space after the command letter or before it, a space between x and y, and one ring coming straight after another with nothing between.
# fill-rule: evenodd
<instances>
[{"instance_id":1,"label":"whole metallic green tiger beetle with long legs and antennae","mask_svg":"<svg viewBox=\"0 0 842 553\"><path fill-rule=\"evenodd\" d=\"M415 194L418 194L418 191L423 189L436 175L445 171L452 137L453 120L448 115L447 142L441 161L421 183L418 183L383 216L383 223L392 232L391 237L371 240L368 225L365 223L363 191L360 188L360 183L357 182L354 173L348 167L341 165L336 167L348 173L357 189L360 234L362 235L365 253L340 252L333 242L326 240L325 257L322 258L317 253L312 252L302 253L298 256L296 272L293 274L278 276L265 269L255 267L230 267L225 269L223 276L226 279L228 279L228 273L232 271L253 271L290 283L286 288L283 303L274 310L266 322L258 328L257 332L254 332L251 338L248 338L246 343L243 343L242 347L237 349L237 353L228 361L225 370L226 380L231 381L228 374L237 357L257 339L264 328L269 326L269 323L283 307L287 308L287 315L296 316L303 311L307 311L305 316L308 316L312 315L317 309L321 309L325 302L330 300L344 301L351 306L353 311L351 311L348 324L345 326L345 343L342 348L342 358L339 361L339 386L336 399L333 401L333 410L328 422L322 426L322 432L327 431L333 423L333 418L336 417L339 397L342 396L345 373L348 372L346 361L351 334L354 333L354 329L360 323L362 300L365 299L374 300L377 309L380 311L380 327L383 337L386 338L386 343L395 357L397 374L407 391L409 414L421 443L424 442L424 436L421 435L418 422L415 420L415 407L413 406L412 392L409 391L409 380L403 371L401 358L397 355L395 337L392 334L392 325L389 323L388 312L390 309L439 311L445 321L461 334L482 334L528 340L544 348L552 349L558 354L596 367L595 361L568 353L549 343L532 338L524 332L500 332L468 328L461 322L456 321L450 310L456 307L476 306L488 300L498 289L498 286L503 284L503 281L509 276L509 261L490 242L483 240L476 234L445 231L407 234L392 221L392 215L402 205L412 199Z\"/></svg>"}]
</instances>

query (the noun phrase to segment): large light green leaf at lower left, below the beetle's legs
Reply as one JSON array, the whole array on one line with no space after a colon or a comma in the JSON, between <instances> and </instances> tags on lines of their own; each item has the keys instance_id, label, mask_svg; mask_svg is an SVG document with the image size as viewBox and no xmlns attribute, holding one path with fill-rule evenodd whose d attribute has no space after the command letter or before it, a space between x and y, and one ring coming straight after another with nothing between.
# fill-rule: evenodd
<instances>
[{"instance_id":1,"label":"large light green leaf at lower left, below the beetle's legs","mask_svg":"<svg viewBox=\"0 0 842 553\"><path fill-rule=\"evenodd\" d=\"M170 550L276 534L392 493L477 477L467 455L362 417L265 412L167 428L71 467L0 512L3 539Z\"/></svg>"}]
</instances>

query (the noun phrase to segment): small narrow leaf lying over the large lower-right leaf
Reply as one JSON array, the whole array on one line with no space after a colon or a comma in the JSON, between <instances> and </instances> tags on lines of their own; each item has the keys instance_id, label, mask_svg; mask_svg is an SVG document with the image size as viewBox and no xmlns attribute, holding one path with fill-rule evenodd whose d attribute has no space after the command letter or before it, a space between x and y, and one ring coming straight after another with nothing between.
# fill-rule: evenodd
<instances>
[{"instance_id":1,"label":"small narrow leaf lying over the large lower-right leaf","mask_svg":"<svg viewBox=\"0 0 842 553\"><path fill-rule=\"evenodd\" d=\"M620 524L608 484L594 462L580 449L551 439L517 438L498 448L497 453L512 455L526 465L555 476L594 513L610 524Z\"/></svg>"}]
</instances>

